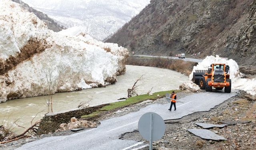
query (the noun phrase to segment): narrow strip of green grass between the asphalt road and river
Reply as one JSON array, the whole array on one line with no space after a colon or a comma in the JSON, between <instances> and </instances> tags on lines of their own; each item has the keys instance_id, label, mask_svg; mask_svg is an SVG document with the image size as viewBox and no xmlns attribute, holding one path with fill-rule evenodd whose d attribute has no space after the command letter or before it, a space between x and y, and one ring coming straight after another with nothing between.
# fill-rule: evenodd
<instances>
[{"instance_id":1,"label":"narrow strip of green grass between the asphalt road and river","mask_svg":"<svg viewBox=\"0 0 256 150\"><path fill-rule=\"evenodd\" d=\"M172 91L174 91L175 93L180 92L180 90L168 90L168 91L156 92L156 93L153 93L153 95L143 94L143 95L139 95L139 96L133 96L133 97L127 98L124 101L110 103L109 105L98 109L96 112L92 112L91 114L81 116L81 118L89 118L89 117L98 116L102 112L111 111L111 110L115 110L117 108L123 108L126 106L130 106L132 104L136 104L136 103L142 102L144 100L156 100L157 98L164 97L166 93L171 93ZM159 96L157 96L157 95L159 95Z\"/></svg>"}]
</instances>

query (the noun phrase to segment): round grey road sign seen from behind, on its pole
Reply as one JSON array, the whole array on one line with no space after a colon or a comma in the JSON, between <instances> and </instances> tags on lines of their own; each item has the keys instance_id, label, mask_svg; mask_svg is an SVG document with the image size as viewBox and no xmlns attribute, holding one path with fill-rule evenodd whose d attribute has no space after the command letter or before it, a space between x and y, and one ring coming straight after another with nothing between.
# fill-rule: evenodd
<instances>
[{"instance_id":1,"label":"round grey road sign seen from behind, on its pole","mask_svg":"<svg viewBox=\"0 0 256 150\"><path fill-rule=\"evenodd\" d=\"M162 138L165 128L163 118L154 112L142 115L138 122L140 135L150 142L150 150L152 150L152 142Z\"/></svg>"}]
</instances>

